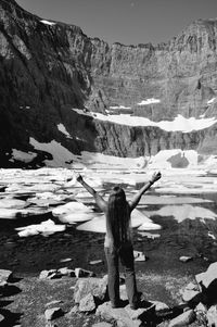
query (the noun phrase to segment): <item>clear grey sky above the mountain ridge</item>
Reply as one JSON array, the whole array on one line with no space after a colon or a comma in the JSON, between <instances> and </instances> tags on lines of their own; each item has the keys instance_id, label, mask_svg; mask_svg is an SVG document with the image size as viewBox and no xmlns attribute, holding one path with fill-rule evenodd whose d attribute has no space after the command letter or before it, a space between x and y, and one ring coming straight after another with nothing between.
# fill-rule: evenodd
<instances>
[{"instance_id":1,"label":"clear grey sky above the mountain ridge","mask_svg":"<svg viewBox=\"0 0 217 327\"><path fill-rule=\"evenodd\" d=\"M123 45L167 42L199 18L217 17L217 0L16 0L46 20L79 26Z\"/></svg>"}]
</instances>

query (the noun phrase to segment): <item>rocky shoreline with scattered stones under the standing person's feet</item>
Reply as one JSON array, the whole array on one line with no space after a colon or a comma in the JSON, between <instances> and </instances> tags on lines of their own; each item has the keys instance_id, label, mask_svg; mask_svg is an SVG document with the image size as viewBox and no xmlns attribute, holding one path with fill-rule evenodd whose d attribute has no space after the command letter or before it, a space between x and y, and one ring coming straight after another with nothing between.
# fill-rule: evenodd
<instances>
[{"instance_id":1,"label":"rocky shoreline with scattered stones under the standing person's feet","mask_svg":"<svg viewBox=\"0 0 217 327\"><path fill-rule=\"evenodd\" d=\"M151 280L151 292L146 279ZM138 276L140 305L128 305L125 278L120 276L122 307L112 309L107 276L82 268L42 271L38 277L17 278L0 269L0 326L132 327L216 326L217 262L195 276ZM142 282L143 281L143 282ZM168 304L157 298L159 285L170 292ZM164 297L164 295L163 295ZM165 297L166 299L166 297Z\"/></svg>"}]
</instances>

